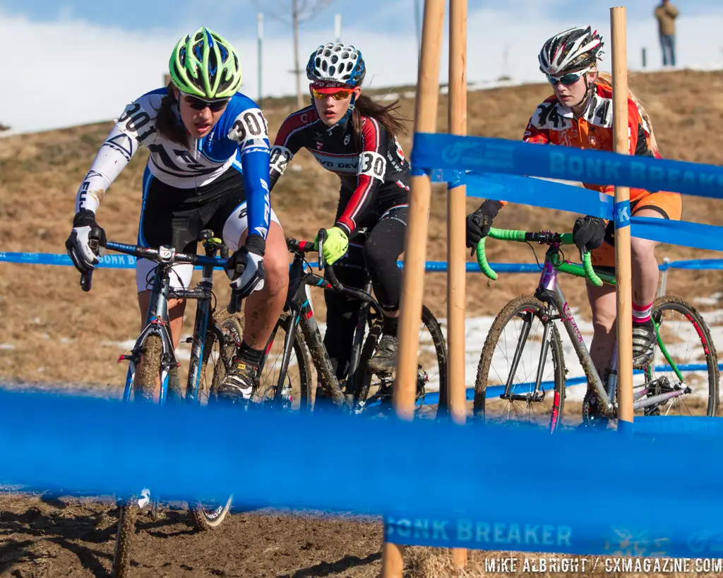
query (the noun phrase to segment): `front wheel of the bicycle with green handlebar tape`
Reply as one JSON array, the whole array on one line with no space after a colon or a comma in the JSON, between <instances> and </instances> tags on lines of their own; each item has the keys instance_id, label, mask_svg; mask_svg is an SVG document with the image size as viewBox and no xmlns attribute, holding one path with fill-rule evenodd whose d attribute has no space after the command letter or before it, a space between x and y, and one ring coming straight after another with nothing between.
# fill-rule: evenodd
<instances>
[{"instance_id":1,"label":"front wheel of the bicycle with green handlebar tape","mask_svg":"<svg viewBox=\"0 0 723 578\"><path fill-rule=\"evenodd\" d=\"M513 299L497 314L484 342L474 415L487 423L553 432L560 426L564 403L562 342L547 305L533 296Z\"/></svg>"}]
</instances>

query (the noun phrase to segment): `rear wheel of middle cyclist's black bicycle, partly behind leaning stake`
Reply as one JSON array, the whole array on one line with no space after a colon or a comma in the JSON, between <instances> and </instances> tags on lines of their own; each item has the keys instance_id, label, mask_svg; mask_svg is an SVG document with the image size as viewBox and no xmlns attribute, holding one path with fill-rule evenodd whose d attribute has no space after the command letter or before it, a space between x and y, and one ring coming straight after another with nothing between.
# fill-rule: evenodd
<instances>
[{"instance_id":1,"label":"rear wheel of middle cyclist's black bicycle, partly behind leaning stake","mask_svg":"<svg viewBox=\"0 0 723 578\"><path fill-rule=\"evenodd\" d=\"M357 413L375 411L385 413L389 409L394 375L374 374L367 368L375 354L382 332L372 327L361 349L358 377L354 391L354 407ZM371 392L371 395L369 393ZM449 390L447 385L447 344L439 322L422 306L422 323L419 324L419 349L417 350L416 418L436 419L447 415Z\"/></svg>"}]
</instances>

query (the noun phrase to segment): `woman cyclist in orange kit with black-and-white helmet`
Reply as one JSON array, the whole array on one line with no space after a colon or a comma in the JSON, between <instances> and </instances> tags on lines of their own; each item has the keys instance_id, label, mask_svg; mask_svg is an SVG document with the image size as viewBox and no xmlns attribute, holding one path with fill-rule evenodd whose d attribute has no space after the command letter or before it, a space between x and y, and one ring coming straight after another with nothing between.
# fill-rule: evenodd
<instances>
[{"instance_id":1,"label":"woman cyclist in orange kit with black-and-white helmet","mask_svg":"<svg viewBox=\"0 0 723 578\"><path fill-rule=\"evenodd\" d=\"M539 53L540 70L554 94L538 105L530 118L523 140L563 147L612 151L612 79L598 72L603 42L597 31L576 27L547 40ZM640 100L628 94L628 134L630 155L660 158L653 127ZM614 194L613 186L584 184L586 189ZM467 216L467 246L476 246L489 233L492 219L504 201L488 199ZM680 220L683 202L680 194L630 189L631 214ZM591 251L596 267L615 266L615 233L611 222L586 215L578 217L573 238L580 249ZM630 238L633 270L633 365L640 368L652 359L655 328L651 309L658 285L656 241ZM615 342L615 287L587 284L594 327L590 355L599 375L605 379ZM587 402L594 415L596 400L589 392Z\"/></svg>"}]
</instances>

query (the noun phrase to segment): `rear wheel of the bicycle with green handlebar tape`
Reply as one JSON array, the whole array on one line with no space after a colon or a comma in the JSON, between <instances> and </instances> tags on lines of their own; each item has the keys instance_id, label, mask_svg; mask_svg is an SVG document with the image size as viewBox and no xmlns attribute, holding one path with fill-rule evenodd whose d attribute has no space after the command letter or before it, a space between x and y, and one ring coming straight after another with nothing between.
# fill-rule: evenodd
<instances>
[{"instance_id":1,"label":"rear wheel of the bicycle with green handlebar tape","mask_svg":"<svg viewBox=\"0 0 723 578\"><path fill-rule=\"evenodd\" d=\"M660 401L636 409L636 414L718 415L718 356L701 314L681 298L664 296L653 303L653 319L660 339L653 363L633 381L633 396L636 401L654 397ZM675 368L665 358L661 343Z\"/></svg>"}]
</instances>

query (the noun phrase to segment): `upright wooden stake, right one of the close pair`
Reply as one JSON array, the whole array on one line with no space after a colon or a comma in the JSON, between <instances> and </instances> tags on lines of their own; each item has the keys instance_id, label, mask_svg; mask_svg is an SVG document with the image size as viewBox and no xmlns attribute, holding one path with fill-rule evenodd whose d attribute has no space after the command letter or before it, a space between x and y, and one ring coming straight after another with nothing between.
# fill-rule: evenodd
<instances>
[{"instance_id":1,"label":"upright wooden stake, right one of the close pair","mask_svg":"<svg viewBox=\"0 0 723 578\"><path fill-rule=\"evenodd\" d=\"M450 0L449 131L467 134L467 0ZM447 383L450 414L455 423L466 420L465 366L465 282L466 186L447 193ZM457 569L467 564L466 548L452 548Z\"/></svg>"}]
</instances>

